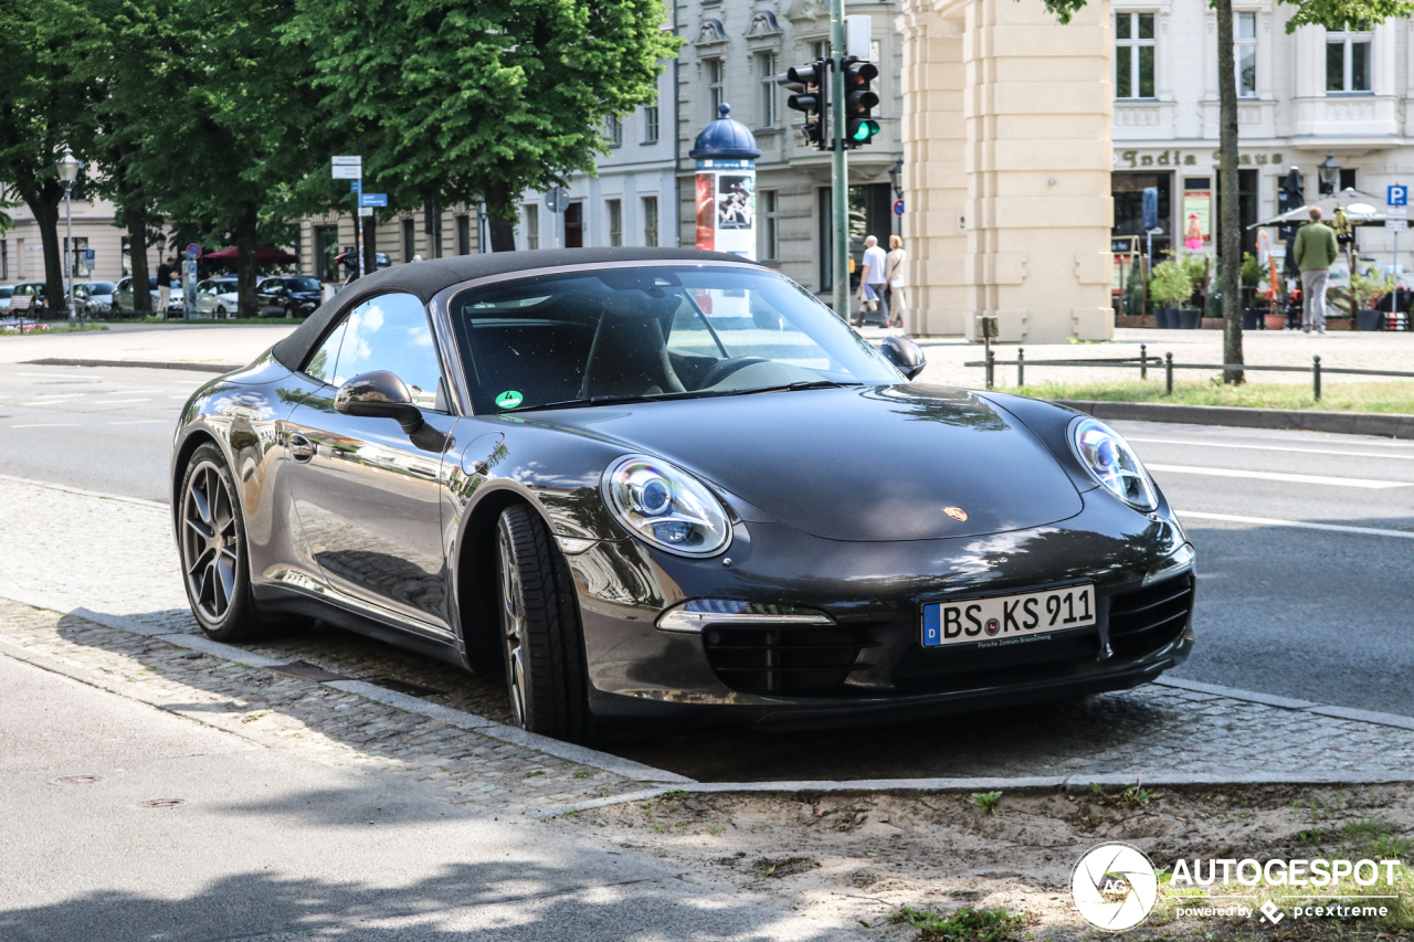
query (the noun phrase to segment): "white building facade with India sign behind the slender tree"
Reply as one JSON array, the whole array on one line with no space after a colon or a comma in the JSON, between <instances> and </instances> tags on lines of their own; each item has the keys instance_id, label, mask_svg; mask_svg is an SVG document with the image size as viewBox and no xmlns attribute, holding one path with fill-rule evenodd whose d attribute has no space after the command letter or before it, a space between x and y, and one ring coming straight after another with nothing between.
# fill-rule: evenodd
<instances>
[{"instance_id":1,"label":"white building facade with India sign behind the slender tree","mask_svg":"<svg viewBox=\"0 0 1414 942\"><path fill-rule=\"evenodd\" d=\"M1239 208L1249 229L1277 215L1278 181L1298 167L1318 197L1318 164L1339 165L1335 187L1377 197L1414 182L1411 24L1301 27L1274 0L1234 0L1239 95ZM1114 235L1143 233L1143 191L1159 197L1155 253L1213 252L1217 243L1217 18L1208 4L1114 0ZM1274 232L1270 233L1274 236ZM1357 229L1362 256L1393 262L1383 228ZM1407 260L1414 246L1401 246ZM1261 248L1267 248L1266 242ZM1342 266L1343 267L1343 266ZM1403 263L1401 263L1401 267Z\"/></svg>"}]
</instances>

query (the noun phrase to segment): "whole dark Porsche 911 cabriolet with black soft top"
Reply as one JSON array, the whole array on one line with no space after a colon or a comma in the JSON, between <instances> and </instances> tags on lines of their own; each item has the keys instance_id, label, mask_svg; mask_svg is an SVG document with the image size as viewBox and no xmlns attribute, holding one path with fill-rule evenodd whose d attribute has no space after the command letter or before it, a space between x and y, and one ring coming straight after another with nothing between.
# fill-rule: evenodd
<instances>
[{"instance_id":1,"label":"whole dark Porsche 911 cabriolet with black soft top","mask_svg":"<svg viewBox=\"0 0 1414 942\"><path fill-rule=\"evenodd\" d=\"M378 272L187 405L191 607L218 639L317 617L503 673L525 728L581 741L1182 662L1193 550L1123 438L922 368L734 256Z\"/></svg>"}]
</instances>

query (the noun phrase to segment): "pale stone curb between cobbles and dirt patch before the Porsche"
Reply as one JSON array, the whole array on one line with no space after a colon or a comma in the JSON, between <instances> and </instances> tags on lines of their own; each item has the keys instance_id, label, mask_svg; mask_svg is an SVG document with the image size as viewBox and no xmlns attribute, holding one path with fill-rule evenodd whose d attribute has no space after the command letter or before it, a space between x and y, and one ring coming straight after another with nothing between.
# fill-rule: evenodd
<instances>
[{"instance_id":1,"label":"pale stone curb between cobbles and dirt patch before the Porsche","mask_svg":"<svg viewBox=\"0 0 1414 942\"><path fill-rule=\"evenodd\" d=\"M864 778L854 781L817 782L690 782L677 786L628 792L609 798L591 798L573 805L551 805L527 812L532 818L549 819L573 815L609 805L652 801L663 795L790 795L797 792L820 795L877 795L909 792L990 792L1008 789L1065 789L1086 792L1090 785L1102 788L1145 786L1175 788L1181 785L1401 785L1414 782L1414 769L1407 774L1390 772L1342 772L1322 775L1321 772L1250 772L1243 775L1209 775L1198 772L1104 772L1097 775L1042 775L1025 778Z\"/></svg>"}]
</instances>

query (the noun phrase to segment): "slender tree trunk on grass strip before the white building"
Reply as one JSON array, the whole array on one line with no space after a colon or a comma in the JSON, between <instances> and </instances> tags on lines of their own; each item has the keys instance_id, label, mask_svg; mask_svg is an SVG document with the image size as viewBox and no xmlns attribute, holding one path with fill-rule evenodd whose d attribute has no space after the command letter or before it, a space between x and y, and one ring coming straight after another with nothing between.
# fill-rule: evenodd
<instances>
[{"instance_id":1,"label":"slender tree trunk on grass strip before the white building","mask_svg":"<svg viewBox=\"0 0 1414 942\"><path fill-rule=\"evenodd\" d=\"M1233 3L1217 0L1219 205L1223 264L1223 362L1241 364L1241 216L1237 211L1237 66L1233 62ZM1223 371L1241 383L1243 371Z\"/></svg>"}]
</instances>

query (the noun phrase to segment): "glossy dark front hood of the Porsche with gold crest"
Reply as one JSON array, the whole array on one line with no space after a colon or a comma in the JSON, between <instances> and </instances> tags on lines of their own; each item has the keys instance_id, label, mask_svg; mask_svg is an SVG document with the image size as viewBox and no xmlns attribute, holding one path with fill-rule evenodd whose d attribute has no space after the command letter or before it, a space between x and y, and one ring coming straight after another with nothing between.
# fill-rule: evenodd
<instances>
[{"instance_id":1,"label":"glossy dark front hood of the Porsche with gold crest","mask_svg":"<svg viewBox=\"0 0 1414 942\"><path fill-rule=\"evenodd\" d=\"M534 420L667 458L833 540L977 536L1053 523L1083 506L1029 429L946 386L665 400Z\"/></svg>"}]
</instances>

